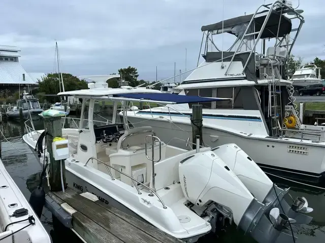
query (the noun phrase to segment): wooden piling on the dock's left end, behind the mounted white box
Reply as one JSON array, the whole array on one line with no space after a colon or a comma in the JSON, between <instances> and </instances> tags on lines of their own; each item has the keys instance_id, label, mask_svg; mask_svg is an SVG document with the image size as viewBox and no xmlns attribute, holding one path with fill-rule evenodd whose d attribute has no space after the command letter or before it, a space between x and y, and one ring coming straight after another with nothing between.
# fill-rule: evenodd
<instances>
[{"instance_id":1,"label":"wooden piling on the dock's left end, behind the mounted white box","mask_svg":"<svg viewBox=\"0 0 325 243\"><path fill-rule=\"evenodd\" d=\"M46 131L46 149L49 153L50 158L50 188L51 191L61 191L61 170L60 170L60 163L61 160L54 160L53 157L53 149L52 149L52 142L53 138L55 137L62 137L62 129L61 129L61 117L51 117L51 116L44 116L43 117L44 123L44 130ZM63 185L64 188L67 188L66 184L66 167L64 163L62 163L62 175L63 175Z\"/></svg>"}]
</instances>

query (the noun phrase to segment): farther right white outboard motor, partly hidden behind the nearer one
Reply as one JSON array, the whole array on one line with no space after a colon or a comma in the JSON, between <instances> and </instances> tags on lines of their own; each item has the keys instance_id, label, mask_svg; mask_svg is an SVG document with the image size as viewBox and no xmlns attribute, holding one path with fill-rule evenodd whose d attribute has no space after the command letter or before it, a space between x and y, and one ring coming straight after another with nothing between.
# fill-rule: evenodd
<instances>
[{"instance_id":1,"label":"farther right white outboard motor, partly hidden behind the nearer one","mask_svg":"<svg viewBox=\"0 0 325 243\"><path fill-rule=\"evenodd\" d=\"M289 189L283 190L273 185L273 182L264 171L236 144L224 144L213 148L212 151L233 170L258 201L269 205L266 213L270 213L271 209L281 209L282 207L284 212L281 210L281 214L285 214L289 220L295 219L295 223L299 224L309 224L311 222L312 217L301 214L313 211L312 208L308 208L307 199L297 197L293 206L290 207L283 199ZM278 194L278 197L276 194Z\"/></svg>"}]
</instances>

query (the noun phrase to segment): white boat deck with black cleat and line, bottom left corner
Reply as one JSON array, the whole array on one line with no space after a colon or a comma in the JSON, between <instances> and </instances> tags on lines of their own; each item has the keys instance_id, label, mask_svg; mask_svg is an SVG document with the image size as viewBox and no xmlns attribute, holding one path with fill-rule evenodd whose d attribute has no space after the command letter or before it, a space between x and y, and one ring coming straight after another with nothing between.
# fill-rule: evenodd
<instances>
[{"instance_id":1,"label":"white boat deck with black cleat and line, bottom left corner","mask_svg":"<svg viewBox=\"0 0 325 243\"><path fill-rule=\"evenodd\" d=\"M0 198L0 242L51 242L41 221L8 174L1 160Z\"/></svg>"}]
</instances>

